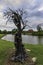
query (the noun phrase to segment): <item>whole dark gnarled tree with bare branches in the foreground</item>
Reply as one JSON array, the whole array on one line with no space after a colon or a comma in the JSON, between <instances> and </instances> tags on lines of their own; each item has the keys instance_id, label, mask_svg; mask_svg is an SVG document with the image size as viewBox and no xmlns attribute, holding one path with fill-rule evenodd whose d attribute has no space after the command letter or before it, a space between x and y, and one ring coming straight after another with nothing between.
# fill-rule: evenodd
<instances>
[{"instance_id":1,"label":"whole dark gnarled tree with bare branches in the foreground","mask_svg":"<svg viewBox=\"0 0 43 65\"><path fill-rule=\"evenodd\" d=\"M18 29L15 33L15 56L12 58L14 61L23 62L27 57L24 45L22 44L22 31L26 27L27 23L26 12L23 9L14 11L9 8L6 12L4 12L4 16L7 17L8 21L13 21Z\"/></svg>"}]
</instances>

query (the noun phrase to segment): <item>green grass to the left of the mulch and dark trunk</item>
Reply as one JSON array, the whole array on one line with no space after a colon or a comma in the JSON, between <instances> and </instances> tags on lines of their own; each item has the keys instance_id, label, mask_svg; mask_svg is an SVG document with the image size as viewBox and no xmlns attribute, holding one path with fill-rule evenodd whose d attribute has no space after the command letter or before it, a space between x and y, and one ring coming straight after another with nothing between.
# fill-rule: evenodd
<instances>
[{"instance_id":1,"label":"green grass to the left of the mulch and dark trunk","mask_svg":"<svg viewBox=\"0 0 43 65\"><path fill-rule=\"evenodd\" d=\"M4 61L7 58L9 48L13 47L13 43L0 40L0 65L4 65Z\"/></svg>"}]
</instances>

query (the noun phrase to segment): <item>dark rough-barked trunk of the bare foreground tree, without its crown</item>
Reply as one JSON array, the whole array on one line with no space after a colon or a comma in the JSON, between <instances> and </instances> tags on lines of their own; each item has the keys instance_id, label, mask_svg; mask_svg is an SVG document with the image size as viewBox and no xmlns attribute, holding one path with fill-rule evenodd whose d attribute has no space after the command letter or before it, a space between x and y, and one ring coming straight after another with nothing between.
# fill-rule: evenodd
<instances>
[{"instance_id":1,"label":"dark rough-barked trunk of the bare foreground tree, without its crown","mask_svg":"<svg viewBox=\"0 0 43 65\"><path fill-rule=\"evenodd\" d=\"M15 56L14 56L14 60L15 61L20 61L20 62L24 62L24 60L27 57L24 45L22 44L22 32L21 32L21 24L19 23L18 25L18 31L15 34Z\"/></svg>"}]
</instances>

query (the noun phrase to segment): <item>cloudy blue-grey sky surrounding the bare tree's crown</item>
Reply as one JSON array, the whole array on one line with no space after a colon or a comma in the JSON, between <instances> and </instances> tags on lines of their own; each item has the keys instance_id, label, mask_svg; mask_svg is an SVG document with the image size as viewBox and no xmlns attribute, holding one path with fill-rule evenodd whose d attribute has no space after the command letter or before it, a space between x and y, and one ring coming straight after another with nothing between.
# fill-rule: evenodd
<instances>
[{"instance_id":1,"label":"cloudy blue-grey sky surrounding the bare tree's crown","mask_svg":"<svg viewBox=\"0 0 43 65\"><path fill-rule=\"evenodd\" d=\"M0 0L0 25L6 25L3 11L8 7L26 10L28 13L28 24L32 28L36 28L38 24L43 24L43 0ZM8 26L15 27L10 22L7 24Z\"/></svg>"}]
</instances>

